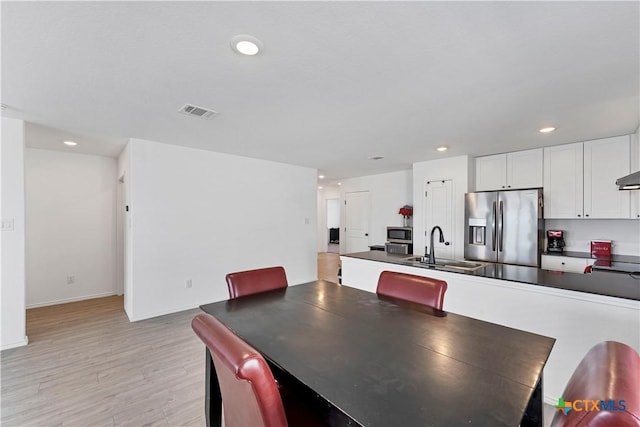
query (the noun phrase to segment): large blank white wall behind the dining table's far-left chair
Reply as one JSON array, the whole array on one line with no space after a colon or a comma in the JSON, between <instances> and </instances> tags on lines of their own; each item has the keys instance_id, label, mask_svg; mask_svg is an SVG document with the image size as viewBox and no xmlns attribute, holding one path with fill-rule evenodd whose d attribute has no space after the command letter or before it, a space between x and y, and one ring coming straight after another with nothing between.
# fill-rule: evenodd
<instances>
[{"instance_id":1,"label":"large blank white wall behind the dining table's far-left chair","mask_svg":"<svg viewBox=\"0 0 640 427\"><path fill-rule=\"evenodd\" d=\"M129 145L132 320L225 300L233 271L283 265L292 285L317 278L315 169Z\"/></svg>"}]
</instances>

